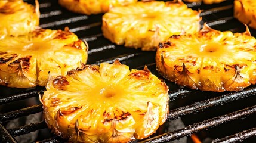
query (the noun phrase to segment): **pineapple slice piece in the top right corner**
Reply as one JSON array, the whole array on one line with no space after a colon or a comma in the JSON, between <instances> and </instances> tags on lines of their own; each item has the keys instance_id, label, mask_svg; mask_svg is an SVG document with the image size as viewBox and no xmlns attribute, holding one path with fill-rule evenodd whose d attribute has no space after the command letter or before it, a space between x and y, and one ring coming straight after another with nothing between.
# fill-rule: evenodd
<instances>
[{"instance_id":1,"label":"pineapple slice piece in the top right corner","mask_svg":"<svg viewBox=\"0 0 256 143\"><path fill-rule=\"evenodd\" d=\"M256 29L256 1L235 0L234 17L240 22L248 24L249 27Z\"/></svg>"}]
</instances>

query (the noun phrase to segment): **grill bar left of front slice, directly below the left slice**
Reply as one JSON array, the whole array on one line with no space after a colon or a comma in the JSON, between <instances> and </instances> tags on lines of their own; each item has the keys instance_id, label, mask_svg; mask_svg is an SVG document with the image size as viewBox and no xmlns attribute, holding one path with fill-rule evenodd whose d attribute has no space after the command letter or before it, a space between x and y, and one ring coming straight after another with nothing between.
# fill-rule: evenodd
<instances>
[{"instance_id":1,"label":"grill bar left of front slice, directly below the left slice","mask_svg":"<svg viewBox=\"0 0 256 143\"><path fill-rule=\"evenodd\" d=\"M8 102L18 101L18 100L24 100L26 98L30 97L36 97L38 96L38 93L43 94L44 89L33 89L31 91L25 91L21 94L14 94L14 95L8 95L6 97L0 98L0 104L5 104Z\"/></svg>"}]
</instances>

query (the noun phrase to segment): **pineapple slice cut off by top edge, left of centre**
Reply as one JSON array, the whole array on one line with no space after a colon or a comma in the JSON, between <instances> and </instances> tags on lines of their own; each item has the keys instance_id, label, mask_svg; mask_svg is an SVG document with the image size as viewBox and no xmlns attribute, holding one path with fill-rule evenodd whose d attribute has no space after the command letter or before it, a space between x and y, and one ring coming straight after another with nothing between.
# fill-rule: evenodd
<instances>
[{"instance_id":1,"label":"pineapple slice cut off by top edge, left of centre","mask_svg":"<svg viewBox=\"0 0 256 143\"><path fill-rule=\"evenodd\" d=\"M127 5L137 0L58 0L58 3L67 10L80 14L100 14L109 11L109 8Z\"/></svg>"}]
</instances>

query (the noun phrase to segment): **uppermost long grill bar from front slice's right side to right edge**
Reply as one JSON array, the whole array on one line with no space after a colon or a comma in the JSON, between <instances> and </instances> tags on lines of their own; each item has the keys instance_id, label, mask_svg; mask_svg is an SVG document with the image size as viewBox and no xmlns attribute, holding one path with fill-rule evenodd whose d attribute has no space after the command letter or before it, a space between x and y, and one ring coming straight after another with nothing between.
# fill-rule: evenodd
<instances>
[{"instance_id":1,"label":"uppermost long grill bar from front slice's right side to right edge","mask_svg":"<svg viewBox=\"0 0 256 143\"><path fill-rule=\"evenodd\" d=\"M230 94L224 94L220 97L211 98L209 100L195 102L194 104L176 108L174 110L169 111L170 113L168 115L168 120L174 120L186 114L195 113L198 111L205 110L206 108L209 108L209 107L221 105L221 104L239 100L245 97L254 96L255 94L256 94L255 88L248 88L240 92L233 92Z\"/></svg>"}]
</instances>

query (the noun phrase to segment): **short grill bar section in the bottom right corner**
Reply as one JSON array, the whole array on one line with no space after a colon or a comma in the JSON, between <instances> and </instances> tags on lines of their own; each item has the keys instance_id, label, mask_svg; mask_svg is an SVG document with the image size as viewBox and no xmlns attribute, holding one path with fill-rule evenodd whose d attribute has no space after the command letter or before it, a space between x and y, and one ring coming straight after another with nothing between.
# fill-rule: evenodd
<instances>
[{"instance_id":1,"label":"short grill bar section in the bottom right corner","mask_svg":"<svg viewBox=\"0 0 256 143\"><path fill-rule=\"evenodd\" d=\"M244 130L243 132L236 133L235 135L227 136L222 139L215 139L214 143L228 143L228 142L243 142L243 140L251 138L256 135L256 128Z\"/></svg>"}]
</instances>

